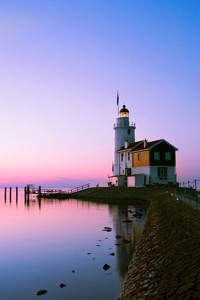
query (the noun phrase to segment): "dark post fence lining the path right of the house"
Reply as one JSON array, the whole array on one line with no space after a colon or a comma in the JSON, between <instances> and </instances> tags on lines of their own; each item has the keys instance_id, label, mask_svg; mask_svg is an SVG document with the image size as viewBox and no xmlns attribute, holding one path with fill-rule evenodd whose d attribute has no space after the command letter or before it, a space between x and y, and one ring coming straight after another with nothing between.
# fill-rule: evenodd
<instances>
[{"instance_id":1,"label":"dark post fence lining the path right of the house","mask_svg":"<svg viewBox=\"0 0 200 300\"><path fill-rule=\"evenodd\" d=\"M176 185L168 186L167 192L174 196L177 200L182 200L189 206L198 210L200 206L200 180L177 182Z\"/></svg>"}]
</instances>

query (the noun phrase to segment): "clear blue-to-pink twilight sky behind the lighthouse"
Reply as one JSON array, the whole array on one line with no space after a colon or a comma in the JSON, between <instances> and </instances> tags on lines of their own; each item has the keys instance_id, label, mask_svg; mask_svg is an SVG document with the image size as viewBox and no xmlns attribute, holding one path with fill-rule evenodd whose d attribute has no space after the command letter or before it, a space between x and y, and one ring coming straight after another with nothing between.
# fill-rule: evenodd
<instances>
[{"instance_id":1,"label":"clear blue-to-pink twilight sky behind the lighthouse","mask_svg":"<svg viewBox=\"0 0 200 300\"><path fill-rule=\"evenodd\" d=\"M117 90L200 179L199 28L198 0L1 0L0 187L106 186Z\"/></svg>"}]
</instances>

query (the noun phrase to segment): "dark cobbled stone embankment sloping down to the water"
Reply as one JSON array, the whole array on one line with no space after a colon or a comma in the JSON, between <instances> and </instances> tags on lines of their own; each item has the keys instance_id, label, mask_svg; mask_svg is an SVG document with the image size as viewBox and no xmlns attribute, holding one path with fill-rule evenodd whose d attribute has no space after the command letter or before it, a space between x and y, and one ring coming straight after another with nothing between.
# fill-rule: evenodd
<instances>
[{"instance_id":1,"label":"dark cobbled stone embankment sloping down to the water","mask_svg":"<svg viewBox=\"0 0 200 300\"><path fill-rule=\"evenodd\" d=\"M152 197L119 300L200 299L199 216L166 192Z\"/></svg>"}]
</instances>

